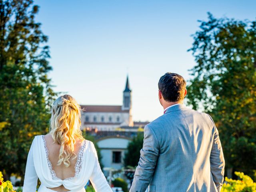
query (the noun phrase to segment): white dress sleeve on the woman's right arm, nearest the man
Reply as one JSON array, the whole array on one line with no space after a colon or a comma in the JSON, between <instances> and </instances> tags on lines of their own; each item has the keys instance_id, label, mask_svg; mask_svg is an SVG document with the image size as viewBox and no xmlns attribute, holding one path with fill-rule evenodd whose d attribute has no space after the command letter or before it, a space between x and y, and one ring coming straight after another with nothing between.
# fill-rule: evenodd
<instances>
[{"instance_id":1,"label":"white dress sleeve on the woman's right arm, nearest the man","mask_svg":"<svg viewBox=\"0 0 256 192\"><path fill-rule=\"evenodd\" d=\"M100 164L98 161L98 156L94 144L92 144L92 151L94 153L94 168L92 170L92 174L90 176L90 182L95 190L95 192L112 192L102 170L100 168Z\"/></svg>"}]
</instances>

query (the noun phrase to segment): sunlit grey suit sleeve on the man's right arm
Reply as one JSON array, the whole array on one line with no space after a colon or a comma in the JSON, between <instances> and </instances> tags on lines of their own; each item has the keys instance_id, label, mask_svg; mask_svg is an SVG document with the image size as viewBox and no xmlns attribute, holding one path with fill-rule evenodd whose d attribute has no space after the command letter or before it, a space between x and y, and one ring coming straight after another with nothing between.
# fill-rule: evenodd
<instances>
[{"instance_id":1,"label":"sunlit grey suit sleeve on the man's right arm","mask_svg":"<svg viewBox=\"0 0 256 192\"><path fill-rule=\"evenodd\" d=\"M214 139L213 139L212 150L210 154L210 166L211 166L212 178L214 180L214 183L216 185L218 192L220 192L223 181L224 181L225 160L222 152L222 146L220 143L219 132L211 117L210 119L214 126Z\"/></svg>"}]
</instances>

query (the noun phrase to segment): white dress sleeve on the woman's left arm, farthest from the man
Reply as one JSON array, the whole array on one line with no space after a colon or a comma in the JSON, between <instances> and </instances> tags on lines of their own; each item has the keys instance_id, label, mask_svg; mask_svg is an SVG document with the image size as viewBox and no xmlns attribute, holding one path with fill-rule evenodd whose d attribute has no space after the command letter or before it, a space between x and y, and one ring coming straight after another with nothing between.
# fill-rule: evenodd
<instances>
[{"instance_id":1,"label":"white dress sleeve on the woman's left arm, farthest from the man","mask_svg":"<svg viewBox=\"0 0 256 192\"><path fill-rule=\"evenodd\" d=\"M36 192L38 176L36 174L36 170L34 166L33 147L34 147L34 140L28 152L28 159L27 159L24 184L23 184L23 192Z\"/></svg>"}]
</instances>

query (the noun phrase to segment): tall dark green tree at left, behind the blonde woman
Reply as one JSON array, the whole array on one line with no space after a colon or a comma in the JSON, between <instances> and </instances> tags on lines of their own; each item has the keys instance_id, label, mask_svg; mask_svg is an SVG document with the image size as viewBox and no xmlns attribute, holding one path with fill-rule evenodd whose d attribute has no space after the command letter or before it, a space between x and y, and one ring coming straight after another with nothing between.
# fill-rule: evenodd
<instances>
[{"instance_id":1,"label":"tall dark green tree at left, behind the blonde woman","mask_svg":"<svg viewBox=\"0 0 256 192\"><path fill-rule=\"evenodd\" d=\"M48 128L55 93L48 40L32 0L0 0L0 170L24 175L32 139Z\"/></svg>"}]
</instances>

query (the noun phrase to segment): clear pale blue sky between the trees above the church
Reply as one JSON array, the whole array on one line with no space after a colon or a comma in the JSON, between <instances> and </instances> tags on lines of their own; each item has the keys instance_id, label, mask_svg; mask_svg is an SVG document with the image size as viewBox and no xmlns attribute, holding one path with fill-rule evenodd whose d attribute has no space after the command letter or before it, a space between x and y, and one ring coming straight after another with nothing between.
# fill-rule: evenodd
<instances>
[{"instance_id":1,"label":"clear pale blue sky between the trees above the church","mask_svg":"<svg viewBox=\"0 0 256 192\"><path fill-rule=\"evenodd\" d=\"M255 0L35 0L48 35L56 92L79 104L121 105L126 75L134 120L162 115L158 80L176 72L189 80L197 20L256 19Z\"/></svg>"}]
</instances>

